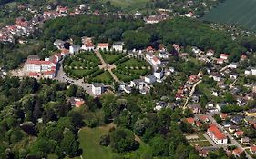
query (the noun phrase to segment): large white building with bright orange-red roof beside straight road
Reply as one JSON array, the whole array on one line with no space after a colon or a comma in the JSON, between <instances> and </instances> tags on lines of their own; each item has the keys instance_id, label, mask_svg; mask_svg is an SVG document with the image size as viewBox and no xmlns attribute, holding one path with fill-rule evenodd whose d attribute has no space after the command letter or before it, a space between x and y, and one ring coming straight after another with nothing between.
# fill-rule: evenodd
<instances>
[{"instance_id":1,"label":"large white building with bright orange-red roof beside straight road","mask_svg":"<svg viewBox=\"0 0 256 159\"><path fill-rule=\"evenodd\" d=\"M207 135L215 144L228 144L228 138L215 124L210 124L210 127L207 129Z\"/></svg>"}]
</instances>

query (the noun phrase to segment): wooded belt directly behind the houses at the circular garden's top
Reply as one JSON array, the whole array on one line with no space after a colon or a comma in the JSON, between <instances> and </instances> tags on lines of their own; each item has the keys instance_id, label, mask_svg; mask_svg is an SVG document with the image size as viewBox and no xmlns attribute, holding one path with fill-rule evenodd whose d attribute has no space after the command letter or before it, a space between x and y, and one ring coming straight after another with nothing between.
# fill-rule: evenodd
<instances>
[{"instance_id":1,"label":"wooded belt directly behind the houses at the circular garden's top","mask_svg":"<svg viewBox=\"0 0 256 159\"><path fill-rule=\"evenodd\" d=\"M141 20L132 18L118 18L114 15L68 16L47 21L44 25L44 38L54 42L56 39L67 40L72 38L80 43L82 36L95 37L95 42L111 42L122 39L126 30L136 30L143 26Z\"/></svg>"}]
</instances>

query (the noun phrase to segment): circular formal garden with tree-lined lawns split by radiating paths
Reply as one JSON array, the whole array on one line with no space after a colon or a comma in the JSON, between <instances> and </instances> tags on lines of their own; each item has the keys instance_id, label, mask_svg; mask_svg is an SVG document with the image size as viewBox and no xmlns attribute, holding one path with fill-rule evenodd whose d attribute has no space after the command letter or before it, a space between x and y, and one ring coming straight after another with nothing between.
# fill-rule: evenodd
<instances>
[{"instance_id":1,"label":"circular formal garden with tree-lined lawns split by radiating paths","mask_svg":"<svg viewBox=\"0 0 256 159\"><path fill-rule=\"evenodd\" d=\"M104 61L110 65L116 65L112 72L120 81L128 82L139 79L150 73L150 66L146 61L139 58L129 58L118 51L100 51ZM111 84L114 82L108 70L99 68L101 62L94 52L85 51L77 55L67 56L64 60L64 71L69 77L84 79L87 83Z\"/></svg>"}]
</instances>

